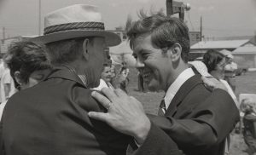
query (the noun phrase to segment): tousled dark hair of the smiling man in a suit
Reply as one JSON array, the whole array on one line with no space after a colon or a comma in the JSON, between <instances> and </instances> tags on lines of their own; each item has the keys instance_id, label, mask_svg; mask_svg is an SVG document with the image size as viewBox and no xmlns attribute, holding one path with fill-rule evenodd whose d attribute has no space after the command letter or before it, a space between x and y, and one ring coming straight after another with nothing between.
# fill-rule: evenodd
<instances>
[{"instance_id":1,"label":"tousled dark hair of the smiling man in a suit","mask_svg":"<svg viewBox=\"0 0 256 155\"><path fill-rule=\"evenodd\" d=\"M189 60L189 29L175 17L169 17L159 11L147 15L142 11L139 14L140 19L132 21L128 18L126 22L126 33L132 44L134 40L143 34L151 35L151 42L160 49L171 48L173 44L179 43L182 47L181 58L184 62Z\"/></svg>"}]
</instances>

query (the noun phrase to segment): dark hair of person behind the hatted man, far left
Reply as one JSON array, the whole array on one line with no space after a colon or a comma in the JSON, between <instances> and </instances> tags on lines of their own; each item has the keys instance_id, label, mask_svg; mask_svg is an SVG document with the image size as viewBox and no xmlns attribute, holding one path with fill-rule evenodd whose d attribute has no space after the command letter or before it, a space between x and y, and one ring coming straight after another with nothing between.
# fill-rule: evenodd
<instances>
[{"instance_id":1,"label":"dark hair of person behind the hatted man, far left","mask_svg":"<svg viewBox=\"0 0 256 155\"><path fill-rule=\"evenodd\" d=\"M13 43L3 60L14 78L15 88L19 89L20 84L15 80L15 72L20 72L20 80L28 83L32 72L51 68L43 46L32 42Z\"/></svg>"}]
</instances>

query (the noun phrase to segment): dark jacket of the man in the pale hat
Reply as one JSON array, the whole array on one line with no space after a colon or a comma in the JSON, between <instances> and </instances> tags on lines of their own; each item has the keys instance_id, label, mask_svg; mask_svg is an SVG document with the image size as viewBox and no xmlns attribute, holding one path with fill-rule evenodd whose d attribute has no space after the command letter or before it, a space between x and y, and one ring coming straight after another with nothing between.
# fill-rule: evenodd
<instances>
[{"instance_id":1,"label":"dark jacket of the man in the pale hat","mask_svg":"<svg viewBox=\"0 0 256 155\"><path fill-rule=\"evenodd\" d=\"M88 117L90 111L104 111L90 94L65 67L15 94L3 112L4 154L125 154L130 137Z\"/></svg>"}]
</instances>

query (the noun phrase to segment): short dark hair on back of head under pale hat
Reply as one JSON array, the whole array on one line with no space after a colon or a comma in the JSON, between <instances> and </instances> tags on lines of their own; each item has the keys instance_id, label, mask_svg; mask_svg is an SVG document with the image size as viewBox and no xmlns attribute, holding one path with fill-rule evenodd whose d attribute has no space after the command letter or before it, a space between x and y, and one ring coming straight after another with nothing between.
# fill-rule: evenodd
<instances>
[{"instance_id":1,"label":"short dark hair on back of head under pale hat","mask_svg":"<svg viewBox=\"0 0 256 155\"><path fill-rule=\"evenodd\" d=\"M84 37L47 43L49 60L54 65L63 65L83 55ZM91 43L91 39L88 38Z\"/></svg>"}]
</instances>

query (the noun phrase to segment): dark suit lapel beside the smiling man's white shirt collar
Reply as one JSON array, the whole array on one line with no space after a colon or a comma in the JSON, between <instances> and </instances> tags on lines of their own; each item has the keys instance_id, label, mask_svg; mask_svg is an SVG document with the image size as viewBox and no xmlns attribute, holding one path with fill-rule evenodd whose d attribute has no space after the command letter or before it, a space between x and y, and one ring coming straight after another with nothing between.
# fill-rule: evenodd
<instances>
[{"instance_id":1,"label":"dark suit lapel beside the smiling man's white shirt collar","mask_svg":"<svg viewBox=\"0 0 256 155\"><path fill-rule=\"evenodd\" d=\"M180 89L177 90L177 94L173 97L170 106L167 109L166 116L173 116L177 112L177 106L183 101L186 95L197 85L202 83L201 75L195 74L195 76L189 78Z\"/></svg>"}]
</instances>

